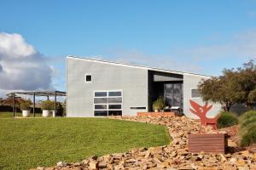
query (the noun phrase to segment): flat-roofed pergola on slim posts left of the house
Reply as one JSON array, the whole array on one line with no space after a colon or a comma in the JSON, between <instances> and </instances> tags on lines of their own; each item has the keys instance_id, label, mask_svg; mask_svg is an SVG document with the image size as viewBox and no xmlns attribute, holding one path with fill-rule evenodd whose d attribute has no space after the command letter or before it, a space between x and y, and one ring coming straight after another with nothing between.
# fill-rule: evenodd
<instances>
[{"instance_id":1,"label":"flat-roofed pergola on slim posts left of the house","mask_svg":"<svg viewBox=\"0 0 256 170\"><path fill-rule=\"evenodd\" d=\"M25 94L25 95L32 95L33 96L33 116L35 115L35 107L36 107L36 96L45 96L49 99L49 96L55 97L55 113L56 113L56 101L57 96L66 96L66 92L61 91L21 91L21 92L11 92L8 95L13 97L13 111L15 116L15 95L16 94Z\"/></svg>"}]
</instances>

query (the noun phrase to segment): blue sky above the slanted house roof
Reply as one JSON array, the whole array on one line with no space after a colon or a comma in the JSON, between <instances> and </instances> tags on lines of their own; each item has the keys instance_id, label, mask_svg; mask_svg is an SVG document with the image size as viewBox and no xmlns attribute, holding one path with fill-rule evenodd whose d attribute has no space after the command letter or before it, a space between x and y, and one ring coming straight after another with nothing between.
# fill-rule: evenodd
<instances>
[{"instance_id":1,"label":"blue sky above the slanted house roof","mask_svg":"<svg viewBox=\"0 0 256 170\"><path fill-rule=\"evenodd\" d=\"M0 32L20 35L53 70L48 88L65 90L67 55L208 75L256 59L256 0L0 0L0 8Z\"/></svg>"}]
</instances>

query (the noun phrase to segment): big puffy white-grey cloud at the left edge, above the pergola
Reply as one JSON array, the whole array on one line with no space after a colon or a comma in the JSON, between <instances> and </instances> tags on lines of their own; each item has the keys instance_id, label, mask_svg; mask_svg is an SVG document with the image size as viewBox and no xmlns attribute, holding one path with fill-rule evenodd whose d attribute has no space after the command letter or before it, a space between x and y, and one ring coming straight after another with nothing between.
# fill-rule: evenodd
<instances>
[{"instance_id":1,"label":"big puffy white-grey cloud at the left edge, above the pergola","mask_svg":"<svg viewBox=\"0 0 256 170\"><path fill-rule=\"evenodd\" d=\"M20 34L0 33L0 89L52 88L52 69L46 58Z\"/></svg>"}]
</instances>

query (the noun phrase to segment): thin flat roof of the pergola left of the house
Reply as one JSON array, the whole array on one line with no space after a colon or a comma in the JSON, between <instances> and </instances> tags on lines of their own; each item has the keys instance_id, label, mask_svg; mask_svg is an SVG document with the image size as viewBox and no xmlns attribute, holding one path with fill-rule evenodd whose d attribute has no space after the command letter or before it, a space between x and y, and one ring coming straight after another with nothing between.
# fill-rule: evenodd
<instances>
[{"instance_id":1,"label":"thin flat roof of the pergola left of the house","mask_svg":"<svg viewBox=\"0 0 256 170\"><path fill-rule=\"evenodd\" d=\"M37 95L37 96L66 96L66 92L61 92L61 91L18 91L18 92L10 92L7 95L12 95L12 94L26 94L26 95Z\"/></svg>"}]
</instances>

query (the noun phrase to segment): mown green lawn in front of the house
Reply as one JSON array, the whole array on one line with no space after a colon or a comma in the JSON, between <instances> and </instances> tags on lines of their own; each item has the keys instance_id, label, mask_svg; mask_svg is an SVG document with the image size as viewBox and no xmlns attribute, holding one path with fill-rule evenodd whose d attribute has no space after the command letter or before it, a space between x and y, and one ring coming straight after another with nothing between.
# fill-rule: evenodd
<instances>
[{"instance_id":1,"label":"mown green lawn in front of the house","mask_svg":"<svg viewBox=\"0 0 256 170\"><path fill-rule=\"evenodd\" d=\"M0 118L0 169L53 166L86 156L169 144L167 128L105 118Z\"/></svg>"}]
</instances>

